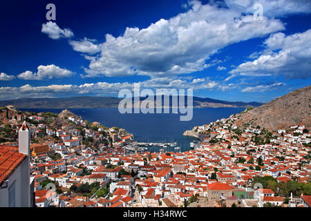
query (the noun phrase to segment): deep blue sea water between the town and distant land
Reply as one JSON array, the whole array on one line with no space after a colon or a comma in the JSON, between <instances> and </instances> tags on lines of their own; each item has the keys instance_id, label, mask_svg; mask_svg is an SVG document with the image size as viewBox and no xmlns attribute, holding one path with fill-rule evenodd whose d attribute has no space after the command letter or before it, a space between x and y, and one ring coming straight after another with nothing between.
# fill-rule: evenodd
<instances>
[{"instance_id":1,"label":"deep blue sea water between the town and distant land","mask_svg":"<svg viewBox=\"0 0 311 221\"><path fill-rule=\"evenodd\" d=\"M21 108L21 111L60 113L59 108ZM194 108L193 118L189 122L180 122L180 114L121 114L117 108L68 108L82 119L100 122L104 126L124 128L133 133L138 142L177 142L181 151L189 150L189 143L194 140L182 135L194 126L215 122L234 113L241 113L244 108ZM170 111L171 112L171 111ZM151 148L150 151L158 151ZM173 151L173 148L168 151Z\"/></svg>"}]
</instances>

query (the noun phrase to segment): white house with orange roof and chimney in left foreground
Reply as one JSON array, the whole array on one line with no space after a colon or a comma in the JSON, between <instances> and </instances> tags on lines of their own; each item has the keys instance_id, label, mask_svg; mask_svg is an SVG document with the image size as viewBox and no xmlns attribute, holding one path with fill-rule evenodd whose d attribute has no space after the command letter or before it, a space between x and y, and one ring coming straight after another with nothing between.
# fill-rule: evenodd
<instances>
[{"instance_id":1,"label":"white house with orange roof and chimney in left foreground","mask_svg":"<svg viewBox=\"0 0 311 221\"><path fill-rule=\"evenodd\" d=\"M30 130L23 122L19 147L0 145L0 207L34 206L34 179L30 181Z\"/></svg>"}]
</instances>

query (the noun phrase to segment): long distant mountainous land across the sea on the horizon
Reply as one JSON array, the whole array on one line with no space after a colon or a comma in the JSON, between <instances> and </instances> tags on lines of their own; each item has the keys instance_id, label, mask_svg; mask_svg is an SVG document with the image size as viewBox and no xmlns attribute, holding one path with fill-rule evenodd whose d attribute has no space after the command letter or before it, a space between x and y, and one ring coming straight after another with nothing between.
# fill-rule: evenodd
<instances>
[{"instance_id":1,"label":"long distant mountainous land across the sea on the horizon","mask_svg":"<svg viewBox=\"0 0 311 221\"><path fill-rule=\"evenodd\" d=\"M146 98L141 97L140 102L144 99ZM12 105L17 108L117 108L121 100L122 98L117 97L20 98L0 101L0 106ZM227 102L202 97L193 97L193 101L194 108L245 108L262 105L258 102Z\"/></svg>"}]
</instances>

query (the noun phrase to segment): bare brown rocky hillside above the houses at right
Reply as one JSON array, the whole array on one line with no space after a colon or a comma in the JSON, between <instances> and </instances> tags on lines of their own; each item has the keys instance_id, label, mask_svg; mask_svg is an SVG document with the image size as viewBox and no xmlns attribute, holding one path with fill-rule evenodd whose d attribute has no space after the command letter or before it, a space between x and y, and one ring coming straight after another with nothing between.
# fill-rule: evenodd
<instances>
[{"instance_id":1,"label":"bare brown rocky hillside above the houses at right","mask_svg":"<svg viewBox=\"0 0 311 221\"><path fill-rule=\"evenodd\" d=\"M311 126L311 86L293 90L267 104L243 113L238 125L250 123L271 130L294 124Z\"/></svg>"}]
</instances>

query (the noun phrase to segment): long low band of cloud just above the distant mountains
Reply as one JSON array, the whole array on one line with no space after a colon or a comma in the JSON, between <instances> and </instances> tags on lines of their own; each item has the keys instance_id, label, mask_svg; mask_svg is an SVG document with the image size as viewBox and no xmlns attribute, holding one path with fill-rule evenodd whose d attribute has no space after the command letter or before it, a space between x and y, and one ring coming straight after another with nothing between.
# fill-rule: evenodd
<instances>
[{"instance_id":1,"label":"long low band of cloud just above the distant mountains","mask_svg":"<svg viewBox=\"0 0 311 221\"><path fill-rule=\"evenodd\" d=\"M156 93L157 88L167 89L188 89L193 90L229 90L235 88L233 84L223 84L221 82L211 81L209 78L187 79L178 77L158 77L140 81L140 88L149 88ZM97 82L92 84L81 85L57 85L50 86L31 86L30 84L21 87L0 87L0 99L17 99L21 97L64 97L73 95L95 95L117 96L121 89L133 90L133 83L108 83Z\"/></svg>"}]
</instances>

